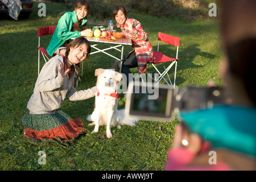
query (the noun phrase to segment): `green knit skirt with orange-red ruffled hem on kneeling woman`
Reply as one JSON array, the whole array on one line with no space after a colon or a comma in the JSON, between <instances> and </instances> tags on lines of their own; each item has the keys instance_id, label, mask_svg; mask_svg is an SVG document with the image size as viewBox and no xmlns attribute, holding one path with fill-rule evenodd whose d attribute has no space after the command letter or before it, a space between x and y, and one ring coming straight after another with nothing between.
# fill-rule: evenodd
<instances>
[{"instance_id":1,"label":"green knit skirt with orange-red ruffled hem on kneeling woman","mask_svg":"<svg viewBox=\"0 0 256 182\"><path fill-rule=\"evenodd\" d=\"M22 117L24 135L33 139L71 139L83 130L81 119L72 119L63 110L55 114L26 114Z\"/></svg>"}]
</instances>

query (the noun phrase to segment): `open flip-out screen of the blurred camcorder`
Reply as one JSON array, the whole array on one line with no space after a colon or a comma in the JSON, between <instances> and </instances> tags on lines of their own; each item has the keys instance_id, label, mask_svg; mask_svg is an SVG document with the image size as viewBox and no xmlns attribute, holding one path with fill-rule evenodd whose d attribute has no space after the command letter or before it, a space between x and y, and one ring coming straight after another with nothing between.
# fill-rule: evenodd
<instances>
[{"instance_id":1,"label":"open flip-out screen of the blurred camcorder","mask_svg":"<svg viewBox=\"0 0 256 182\"><path fill-rule=\"evenodd\" d=\"M174 89L168 85L148 86L130 82L126 94L126 114L142 119L170 119Z\"/></svg>"}]
</instances>

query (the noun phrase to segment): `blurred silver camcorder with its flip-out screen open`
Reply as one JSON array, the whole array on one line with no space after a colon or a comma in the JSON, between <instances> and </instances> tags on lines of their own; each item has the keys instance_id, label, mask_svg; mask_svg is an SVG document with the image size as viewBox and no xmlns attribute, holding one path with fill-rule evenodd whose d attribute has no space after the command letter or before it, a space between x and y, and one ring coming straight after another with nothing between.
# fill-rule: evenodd
<instances>
[{"instance_id":1,"label":"blurred silver camcorder with its flip-out screen open","mask_svg":"<svg viewBox=\"0 0 256 182\"><path fill-rule=\"evenodd\" d=\"M174 89L166 84L152 86L152 83L135 81L127 89L125 114L150 121L172 121L174 113L180 111L227 103L226 91L220 86Z\"/></svg>"}]
</instances>

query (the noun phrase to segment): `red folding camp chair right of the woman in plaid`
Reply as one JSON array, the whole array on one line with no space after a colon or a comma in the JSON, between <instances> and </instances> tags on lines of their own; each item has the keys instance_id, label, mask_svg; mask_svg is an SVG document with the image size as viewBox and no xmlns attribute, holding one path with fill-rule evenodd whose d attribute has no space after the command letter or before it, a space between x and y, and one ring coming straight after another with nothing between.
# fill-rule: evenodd
<instances>
[{"instance_id":1,"label":"red folding camp chair right of the woman in plaid","mask_svg":"<svg viewBox=\"0 0 256 182\"><path fill-rule=\"evenodd\" d=\"M171 44L172 46L176 46L177 47L177 51L176 51L176 58L171 58L168 57L166 55L164 55L162 52L159 52L159 43L160 42L164 42L164 43L168 43ZM156 72L159 73L159 77L156 81L156 84L158 84L162 79L164 79L167 84L173 88L175 88L175 80L176 80L176 69L177 69L177 60L178 58L178 51L179 51L179 46L180 46L180 38L176 38L174 36L171 35L167 35L167 34L163 34L161 32L158 32L158 51L154 51L154 56L155 56L155 61L151 61L148 64L152 64L152 66L155 68ZM164 63L167 62L171 62L170 65L168 65L168 67L166 68ZM163 64L163 68L164 71L161 73L159 71L159 69L156 67L157 64ZM172 84L172 81L170 79L170 76L168 75L168 71L170 71L170 69L172 68L172 66L175 64L175 73L174 73L174 84ZM166 78L164 78L164 76L167 75L168 76L168 81L166 80ZM156 85L155 84L155 85Z\"/></svg>"}]
</instances>

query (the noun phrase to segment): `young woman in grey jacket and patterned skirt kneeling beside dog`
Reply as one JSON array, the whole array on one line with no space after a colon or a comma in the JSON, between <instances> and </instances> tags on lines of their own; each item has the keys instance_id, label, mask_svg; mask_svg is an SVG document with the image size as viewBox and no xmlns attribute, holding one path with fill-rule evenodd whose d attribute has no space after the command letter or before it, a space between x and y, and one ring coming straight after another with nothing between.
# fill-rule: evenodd
<instances>
[{"instance_id":1,"label":"young woman in grey jacket and patterned skirt kneeling beside dog","mask_svg":"<svg viewBox=\"0 0 256 182\"><path fill-rule=\"evenodd\" d=\"M52 57L42 68L34 93L28 101L30 110L22 118L24 135L40 142L45 139L71 139L82 132L82 121L72 119L60 109L65 97L71 101L93 97L97 87L77 91L74 88L75 67L86 57L89 59L90 43L79 37L68 44L65 56ZM76 77L77 81L78 75ZM75 81L75 82L76 82Z\"/></svg>"}]
</instances>

